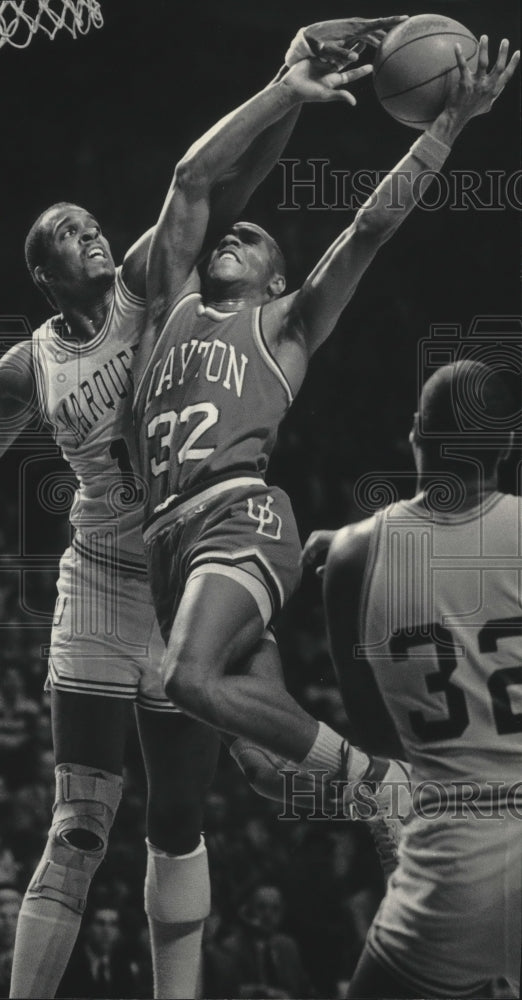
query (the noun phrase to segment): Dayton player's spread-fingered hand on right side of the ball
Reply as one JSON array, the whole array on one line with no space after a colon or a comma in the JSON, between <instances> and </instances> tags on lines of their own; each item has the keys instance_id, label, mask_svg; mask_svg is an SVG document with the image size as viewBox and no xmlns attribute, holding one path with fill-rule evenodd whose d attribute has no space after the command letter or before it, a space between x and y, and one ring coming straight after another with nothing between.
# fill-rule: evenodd
<instances>
[{"instance_id":1,"label":"Dayton player's spread-fingered hand on right side of the ball","mask_svg":"<svg viewBox=\"0 0 522 1000\"><path fill-rule=\"evenodd\" d=\"M456 117L459 123L465 124L470 118L474 118L476 115L485 115L491 111L494 102L506 84L509 83L520 60L520 52L516 51L508 63L508 51L509 42L507 38L504 38L500 43L497 61L488 72L488 37L482 35L477 69L472 73L464 58L461 46L458 44L455 46L459 78L450 91L445 111Z\"/></svg>"}]
</instances>

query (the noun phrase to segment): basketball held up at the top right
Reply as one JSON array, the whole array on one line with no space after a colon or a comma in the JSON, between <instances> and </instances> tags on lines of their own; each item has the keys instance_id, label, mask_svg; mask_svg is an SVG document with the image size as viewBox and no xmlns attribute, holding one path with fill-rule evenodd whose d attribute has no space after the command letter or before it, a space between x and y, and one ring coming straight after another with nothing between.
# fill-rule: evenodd
<instances>
[{"instance_id":1,"label":"basketball held up at the top right","mask_svg":"<svg viewBox=\"0 0 522 1000\"><path fill-rule=\"evenodd\" d=\"M474 71L478 41L451 17L419 14L386 35L375 57L373 82L379 101L392 118L420 130L431 125L458 78L457 42Z\"/></svg>"}]
</instances>

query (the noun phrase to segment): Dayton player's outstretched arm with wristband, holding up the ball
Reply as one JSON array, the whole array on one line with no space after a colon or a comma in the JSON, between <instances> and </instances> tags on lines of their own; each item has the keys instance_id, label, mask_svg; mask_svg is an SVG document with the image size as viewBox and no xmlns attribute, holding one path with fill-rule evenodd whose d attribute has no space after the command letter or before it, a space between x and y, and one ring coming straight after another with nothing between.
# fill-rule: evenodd
<instances>
[{"instance_id":1,"label":"Dayton player's outstretched arm with wristband, holding up the ball","mask_svg":"<svg viewBox=\"0 0 522 1000\"><path fill-rule=\"evenodd\" d=\"M276 352L282 354L285 369L291 370L296 364L302 368L306 356L312 354L331 333L377 251L414 208L420 175L440 170L467 122L491 109L519 61L520 53L515 52L507 64L508 47L508 42L504 40L489 73L486 36L480 40L476 73L470 72L460 47L456 47L460 77L445 109L379 184L357 212L351 226L324 254L299 292L265 307L265 336ZM423 192L429 180L428 175L424 188L421 184ZM282 331L288 336L281 337ZM292 344L295 345L295 358L292 356Z\"/></svg>"}]
</instances>

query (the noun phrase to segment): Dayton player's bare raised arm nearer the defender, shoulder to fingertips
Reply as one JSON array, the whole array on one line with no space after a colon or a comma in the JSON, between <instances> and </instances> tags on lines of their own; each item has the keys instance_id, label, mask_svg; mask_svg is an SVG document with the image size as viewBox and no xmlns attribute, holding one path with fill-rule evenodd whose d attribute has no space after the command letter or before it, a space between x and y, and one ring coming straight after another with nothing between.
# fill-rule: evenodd
<instances>
[{"instance_id":1,"label":"Dayton player's bare raised arm nearer the defender, shoulder to fingertips","mask_svg":"<svg viewBox=\"0 0 522 1000\"><path fill-rule=\"evenodd\" d=\"M303 102L340 100L355 104L353 95L343 88L369 72L370 66L361 66L325 73L324 68L316 70L303 60L278 83L223 118L189 149L176 167L152 239L147 295L154 315L168 308L192 272L208 230L212 191L234 177L242 150Z\"/></svg>"}]
</instances>

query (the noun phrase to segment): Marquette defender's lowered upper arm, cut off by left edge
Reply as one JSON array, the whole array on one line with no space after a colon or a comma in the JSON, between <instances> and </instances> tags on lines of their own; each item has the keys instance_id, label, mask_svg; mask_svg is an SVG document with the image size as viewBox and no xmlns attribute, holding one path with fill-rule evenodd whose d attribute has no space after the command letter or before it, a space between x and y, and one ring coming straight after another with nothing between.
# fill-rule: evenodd
<instances>
[{"instance_id":1,"label":"Marquette defender's lowered upper arm, cut off by left edge","mask_svg":"<svg viewBox=\"0 0 522 1000\"><path fill-rule=\"evenodd\" d=\"M37 412L32 346L16 344L0 358L0 456Z\"/></svg>"}]
</instances>

